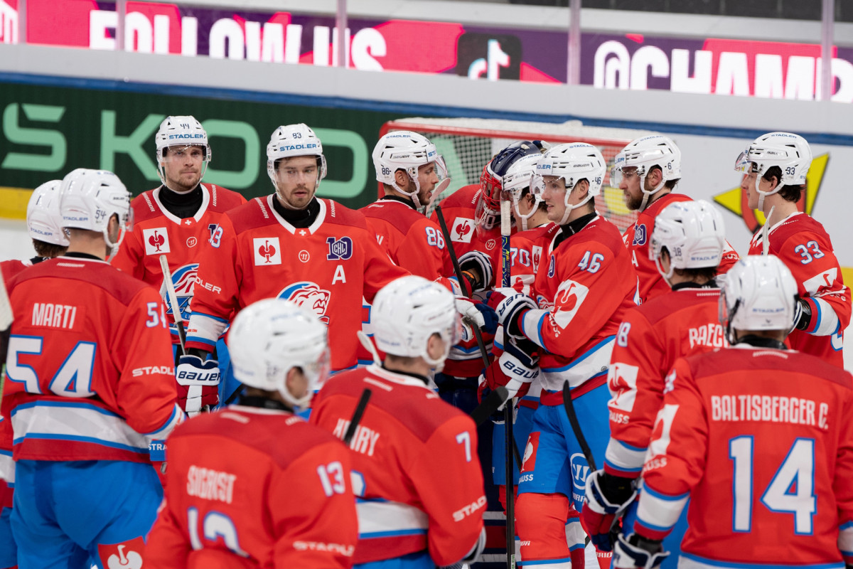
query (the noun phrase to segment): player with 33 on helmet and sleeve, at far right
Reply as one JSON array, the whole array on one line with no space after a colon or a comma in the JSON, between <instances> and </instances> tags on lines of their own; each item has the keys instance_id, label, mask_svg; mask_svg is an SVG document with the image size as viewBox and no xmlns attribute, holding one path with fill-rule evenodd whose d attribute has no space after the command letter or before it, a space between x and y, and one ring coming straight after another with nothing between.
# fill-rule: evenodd
<instances>
[{"instance_id":1,"label":"player with 33 on helmet and sleeve, at far right","mask_svg":"<svg viewBox=\"0 0 853 569\"><path fill-rule=\"evenodd\" d=\"M741 189L749 206L767 217L763 230L752 237L749 253L779 257L797 281L800 298L788 344L844 368L850 288L844 285L826 229L798 211L809 165L811 150L802 136L770 132L740 154L735 170L746 173Z\"/></svg>"}]
</instances>

